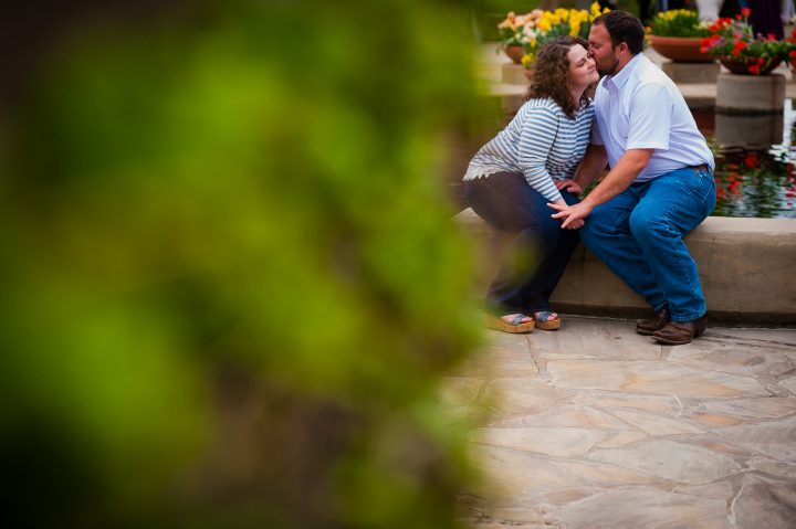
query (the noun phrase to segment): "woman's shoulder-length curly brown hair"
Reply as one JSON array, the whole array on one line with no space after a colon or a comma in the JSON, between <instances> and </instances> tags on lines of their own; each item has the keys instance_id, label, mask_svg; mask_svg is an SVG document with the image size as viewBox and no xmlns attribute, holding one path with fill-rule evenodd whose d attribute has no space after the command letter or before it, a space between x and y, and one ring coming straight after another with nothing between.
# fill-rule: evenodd
<instances>
[{"instance_id":1,"label":"woman's shoulder-length curly brown hair","mask_svg":"<svg viewBox=\"0 0 796 529\"><path fill-rule=\"evenodd\" d=\"M572 100L569 92L569 49L580 44L588 49L588 43L579 36L561 36L548 42L538 52L534 67L533 80L525 94L525 100L552 97L562 107L564 114L570 119L575 117L577 108ZM597 83L589 86L580 96L580 106L587 107L594 97Z\"/></svg>"}]
</instances>

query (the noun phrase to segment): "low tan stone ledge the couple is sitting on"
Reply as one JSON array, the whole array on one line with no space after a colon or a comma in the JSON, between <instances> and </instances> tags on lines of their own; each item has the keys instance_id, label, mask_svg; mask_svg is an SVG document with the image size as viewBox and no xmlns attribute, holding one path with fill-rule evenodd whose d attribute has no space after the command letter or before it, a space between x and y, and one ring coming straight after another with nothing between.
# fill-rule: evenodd
<instances>
[{"instance_id":1,"label":"low tan stone ledge the couple is sitting on","mask_svg":"<svg viewBox=\"0 0 796 529\"><path fill-rule=\"evenodd\" d=\"M479 294L511 235L491 229L471 209L455 221L476 242ZM685 237L699 265L712 321L796 326L796 220L710 216ZM640 317L643 299L579 245L552 303L570 314Z\"/></svg>"}]
</instances>

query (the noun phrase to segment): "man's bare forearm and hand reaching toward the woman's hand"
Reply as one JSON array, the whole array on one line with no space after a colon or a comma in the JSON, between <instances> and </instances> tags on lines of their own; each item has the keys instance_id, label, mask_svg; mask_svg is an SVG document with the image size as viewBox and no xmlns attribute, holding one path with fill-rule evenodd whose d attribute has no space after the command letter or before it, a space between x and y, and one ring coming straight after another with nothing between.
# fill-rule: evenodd
<instances>
[{"instance_id":1,"label":"man's bare forearm and hand reaching toward the woman's hand","mask_svg":"<svg viewBox=\"0 0 796 529\"><path fill-rule=\"evenodd\" d=\"M585 219L591 210L617 194L625 191L638 177L639 172L647 167L653 149L630 149L626 151L616 167L606 174L603 181L579 203L563 208L558 204L547 204L556 210L553 219L563 219L562 228L567 228L575 221ZM589 174L586 174L588 177ZM578 173L580 177L580 173ZM594 178L594 177L593 177Z\"/></svg>"}]
</instances>

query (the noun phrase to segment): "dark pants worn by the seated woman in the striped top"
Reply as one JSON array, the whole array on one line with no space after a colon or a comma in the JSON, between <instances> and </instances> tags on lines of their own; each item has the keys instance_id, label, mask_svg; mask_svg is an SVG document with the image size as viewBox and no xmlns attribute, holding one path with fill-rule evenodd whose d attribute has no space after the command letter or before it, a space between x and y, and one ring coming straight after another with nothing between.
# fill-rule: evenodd
<instances>
[{"instance_id":1,"label":"dark pants worn by the seated woman in the striped top","mask_svg":"<svg viewBox=\"0 0 796 529\"><path fill-rule=\"evenodd\" d=\"M520 172L495 172L464 182L464 195L493 228L515 234L486 294L495 314L549 310L549 297L578 243L577 230L562 230L552 219L549 200L531 188ZM568 204L575 194L562 191Z\"/></svg>"}]
</instances>

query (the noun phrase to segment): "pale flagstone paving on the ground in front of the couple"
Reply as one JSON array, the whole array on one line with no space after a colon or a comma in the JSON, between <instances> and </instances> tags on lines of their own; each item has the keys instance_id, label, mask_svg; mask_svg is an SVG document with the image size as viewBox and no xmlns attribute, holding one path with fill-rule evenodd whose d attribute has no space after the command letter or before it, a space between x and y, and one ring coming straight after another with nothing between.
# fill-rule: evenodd
<instances>
[{"instance_id":1,"label":"pale flagstone paving on the ground in front of the couple","mask_svg":"<svg viewBox=\"0 0 796 529\"><path fill-rule=\"evenodd\" d=\"M624 320L489 331L442 399L493 528L796 528L796 329L657 345Z\"/></svg>"}]
</instances>

